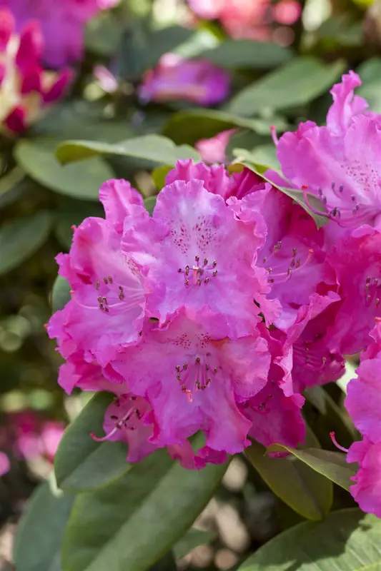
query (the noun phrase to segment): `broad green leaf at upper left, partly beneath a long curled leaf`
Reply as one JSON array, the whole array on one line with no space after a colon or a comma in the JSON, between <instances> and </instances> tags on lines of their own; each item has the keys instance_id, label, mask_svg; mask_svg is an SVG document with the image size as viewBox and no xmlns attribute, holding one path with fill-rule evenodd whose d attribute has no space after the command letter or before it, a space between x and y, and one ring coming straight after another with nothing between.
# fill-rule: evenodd
<instances>
[{"instance_id":1,"label":"broad green leaf at upper left, partly beneath a long curled leaf","mask_svg":"<svg viewBox=\"0 0 381 571\"><path fill-rule=\"evenodd\" d=\"M112 169L99 157L63 167L54 156L56 142L48 138L21 139L14 148L16 161L31 178L53 191L97 201L99 186L112 178Z\"/></svg>"}]
</instances>

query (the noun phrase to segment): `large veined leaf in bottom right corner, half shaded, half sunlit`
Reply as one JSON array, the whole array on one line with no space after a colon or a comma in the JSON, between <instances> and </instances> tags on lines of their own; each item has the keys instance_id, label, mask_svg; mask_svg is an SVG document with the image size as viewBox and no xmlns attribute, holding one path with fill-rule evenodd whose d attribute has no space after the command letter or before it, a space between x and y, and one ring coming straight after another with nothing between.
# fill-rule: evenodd
<instances>
[{"instance_id":1,"label":"large veined leaf in bottom right corner, half shaded, half sunlit","mask_svg":"<svg viewBox=\"0 0 381 571\"><path fill-rule=\"evenodd\" d=\"M303 522L259 547L238 571L379 571L381 520L357 507Z\"/></svg>"}]
</instances>

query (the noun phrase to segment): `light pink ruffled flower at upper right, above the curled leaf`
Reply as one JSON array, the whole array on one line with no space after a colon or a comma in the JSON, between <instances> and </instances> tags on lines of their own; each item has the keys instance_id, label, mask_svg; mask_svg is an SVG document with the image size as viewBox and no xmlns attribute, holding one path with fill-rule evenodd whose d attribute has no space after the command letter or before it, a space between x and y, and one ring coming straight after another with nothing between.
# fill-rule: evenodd
<instances>
[{"instance_id":1,"label":"light pink ruffled flower at upper right, above the curled leaf","mask_svg":"<svg viewBox=\"0 0 381 571\"><path fill-rule=\"evenodd\" d=\"M364 223L380 228L381 122L365 112L364 99L354 96L360 84L353 72L342 76L342 83L331 90L334 103L327 126L307 121L296 133L284 133L277 156L284 176L325 204L322 216L344 228Z\"/></svg>"}]
</instances>

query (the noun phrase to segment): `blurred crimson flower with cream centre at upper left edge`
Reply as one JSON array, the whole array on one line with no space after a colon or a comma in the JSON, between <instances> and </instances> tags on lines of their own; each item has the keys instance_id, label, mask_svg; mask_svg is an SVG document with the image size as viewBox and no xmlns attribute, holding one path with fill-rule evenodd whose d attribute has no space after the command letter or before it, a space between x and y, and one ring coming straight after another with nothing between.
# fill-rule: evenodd
<instances>
[{"instance_id":1,"label":"blurred crimson flower with cream centre at upper left edge","mask_svg":"<svg viewBox=\"0 0 381 571\"><path fill-rule=\"evenodd\" d=\"M0 131L20 133L64 95L71 72L56 74L40 64L44 39L38 21L15 33L14 16L0 9Z\"/></svg>"}]
</instances>

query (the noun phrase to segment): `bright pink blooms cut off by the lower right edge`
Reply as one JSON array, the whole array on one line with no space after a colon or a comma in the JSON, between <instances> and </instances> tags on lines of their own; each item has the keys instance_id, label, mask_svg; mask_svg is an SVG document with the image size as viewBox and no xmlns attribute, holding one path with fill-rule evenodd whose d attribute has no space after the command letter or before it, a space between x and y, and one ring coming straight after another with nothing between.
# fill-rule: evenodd
<instances>
[{"instance_id":1,"label":"bright pink blooms cut off by the lower right edge","mask_svg":"<svg viewBox=\"0 0 381 571\"><path fill-rule=\"evenodd\" d=\"M365 512L381 517L381 320L376 320L370 333L374 342L361 355L358 378L347 386L345 406L362 442L355 442L347 455L348 462L357 462L355 485L350 491Z\"/></svg>"}]
</instances>

